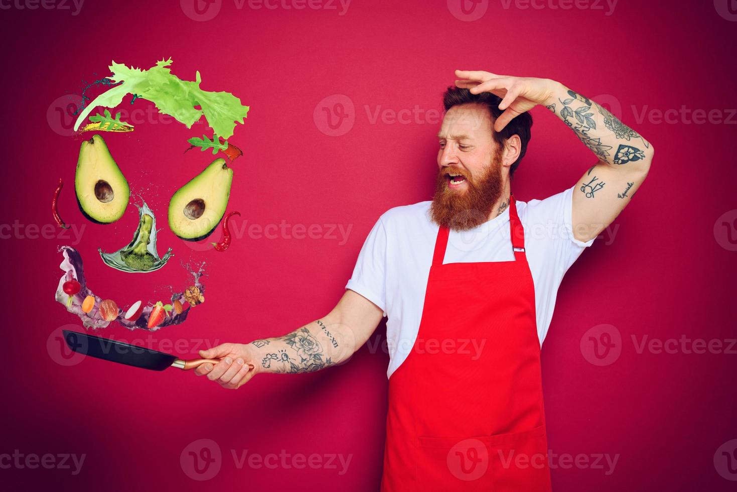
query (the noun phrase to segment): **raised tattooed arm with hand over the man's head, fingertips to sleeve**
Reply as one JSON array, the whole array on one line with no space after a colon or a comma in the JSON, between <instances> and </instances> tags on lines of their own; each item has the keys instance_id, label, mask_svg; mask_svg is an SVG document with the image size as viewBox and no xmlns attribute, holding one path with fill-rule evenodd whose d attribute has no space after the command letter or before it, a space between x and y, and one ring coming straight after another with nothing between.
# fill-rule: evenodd
<instances>
[{"instance_id":1,"label":"raised tattooed arm with hand over the man's head, fingertips to sleeve","mask_svg":"<svg viewBox=\"0 0 737 492\"><path fill-rule=\"evenodd\" d=\"M598 157L573 193L573 237L586 242L609 226L645 180L654 155L651 143L595 101L551 79L456 70L455 85L473 94L502 97L495 131L518 114L542 104L553 111Z\"/></svg>"}]
</instances>

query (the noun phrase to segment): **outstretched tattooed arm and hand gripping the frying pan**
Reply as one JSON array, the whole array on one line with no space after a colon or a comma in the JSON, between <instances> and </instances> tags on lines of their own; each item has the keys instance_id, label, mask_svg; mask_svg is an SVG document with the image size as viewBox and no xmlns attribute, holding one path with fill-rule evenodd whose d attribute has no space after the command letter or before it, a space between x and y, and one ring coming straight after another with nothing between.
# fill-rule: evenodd
<instances>
[{"instance_id":1,"label":"outstretched tattooed arm and hand gripping the frying pan","mask_svg":"<svg viewBox=\"0 0 737 492\"><path fill-rule=\"evenodd\" d=\"M348 360L382 317L381 308L348 289L326 316L287 335L200 350L200 357L220 358L220 362L203 364L195 374L236 389L257 373L312 373ZM248 370L248 363L254 364L254 370Z\"/></svg>"}]
</instances>

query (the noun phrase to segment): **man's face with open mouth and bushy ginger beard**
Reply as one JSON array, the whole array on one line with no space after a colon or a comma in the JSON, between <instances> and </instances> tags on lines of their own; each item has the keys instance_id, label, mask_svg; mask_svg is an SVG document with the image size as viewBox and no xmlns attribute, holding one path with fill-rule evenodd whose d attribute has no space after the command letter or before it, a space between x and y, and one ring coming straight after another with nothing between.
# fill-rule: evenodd
<instances>
[{"instance_id":1,"label":"man's face with open mouth and bushy ginger beard","mask_svg":"<svg viewBox=\"0 0 737 492\"><path fill-rule=\"evenodd\" d=\"M489 220L504 191L501 148L492 138L492 118L483 105L450 108L439 134L438 180L433 221L467 230Z\"/></svg>"}]
</instances>

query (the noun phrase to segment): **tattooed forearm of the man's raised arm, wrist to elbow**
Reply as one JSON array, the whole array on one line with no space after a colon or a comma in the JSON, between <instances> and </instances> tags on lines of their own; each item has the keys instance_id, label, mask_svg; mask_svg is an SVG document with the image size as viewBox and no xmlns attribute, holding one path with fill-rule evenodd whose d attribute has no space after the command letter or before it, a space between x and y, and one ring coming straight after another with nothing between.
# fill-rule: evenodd
<instances>
[{"instance_id":1,"label":"tattooed forearm of the man's raised arm, wrist to elbow","mask_svg":"<svg viewBox=\"0 0 737 492\"><path fill-rule=\"evenodd\" d=\"M648 151L649 142L607 109L576 91L565 89L565 86L560 87L561 93L556 95L556 102L545 107L562 119L602 162L612 165L627 164L646 160L652 155ZM635 139L640 139L643 148L632 145L631 141ZM630 143L625 145L618 140Z\"/></svg>"}]
</instances>

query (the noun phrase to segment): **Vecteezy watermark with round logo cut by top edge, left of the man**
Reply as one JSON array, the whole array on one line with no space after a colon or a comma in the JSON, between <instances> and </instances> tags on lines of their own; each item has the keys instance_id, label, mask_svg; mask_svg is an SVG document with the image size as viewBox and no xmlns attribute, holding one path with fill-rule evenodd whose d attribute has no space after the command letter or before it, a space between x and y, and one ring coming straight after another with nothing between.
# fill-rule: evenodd
<instances>
[{"instance_id":1,"label":"Vecteezy watermark with round logo cut by top edge, left of the man","mask_svg":"<svg viewBox=\"0 0 737 492\"><path fill-rule=\"evenodd\" d=\"M210 21L220 13L223 0L179 0L184 15L193 21ZM328 10L346 15L351 0L234 0L236 10Z\"/></svg>"}]
</instances>

